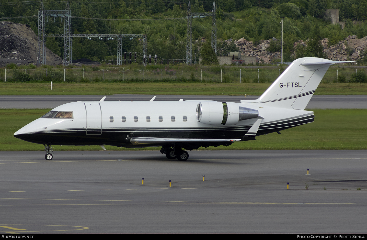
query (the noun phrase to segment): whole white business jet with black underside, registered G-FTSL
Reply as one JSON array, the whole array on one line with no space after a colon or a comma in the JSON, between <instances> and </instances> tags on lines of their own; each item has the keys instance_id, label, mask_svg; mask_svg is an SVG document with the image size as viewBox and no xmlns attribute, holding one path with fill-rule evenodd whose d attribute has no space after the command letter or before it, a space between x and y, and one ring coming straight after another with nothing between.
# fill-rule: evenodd
<instances>
[{"instance_id":1,"label":"whole white business jet with black underside, registered G-FTSL","mask_svg":"<svg viewBox=\"0 0 367 240\"><path fill-rule=\"evenodd\" d=\"M346 61L349 62L349 61ZM169 159L185 161L183 151L228 146L235 141L313 122L305 111L329 66L322 58L295 60L257 100L220 101L77 101L52 109L19 129L14 136L45 146L104 145L162 147Z\"/></svg>"}]
</instances>

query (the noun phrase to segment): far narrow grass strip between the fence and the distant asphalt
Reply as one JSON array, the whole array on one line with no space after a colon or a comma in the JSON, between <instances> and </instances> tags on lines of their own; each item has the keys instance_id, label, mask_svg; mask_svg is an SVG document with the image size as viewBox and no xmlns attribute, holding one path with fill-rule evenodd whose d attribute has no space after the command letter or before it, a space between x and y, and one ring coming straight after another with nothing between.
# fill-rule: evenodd
<instances>
[{"instance_id":1,"label":"far narrow grass strip between the fence and the distant asphalt","mask_svg":"<svg viewBox=\"0 0 367 240\"><path fill-rule=\"evenodd\" d=\"M0 95L261 95L271 83L201 82L0 82ZM366 95L367 83L321 83L315 95Z\"/></svg>"}]
</instances>

